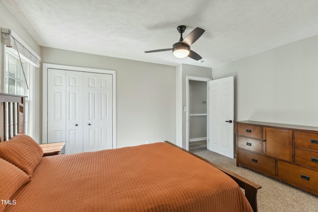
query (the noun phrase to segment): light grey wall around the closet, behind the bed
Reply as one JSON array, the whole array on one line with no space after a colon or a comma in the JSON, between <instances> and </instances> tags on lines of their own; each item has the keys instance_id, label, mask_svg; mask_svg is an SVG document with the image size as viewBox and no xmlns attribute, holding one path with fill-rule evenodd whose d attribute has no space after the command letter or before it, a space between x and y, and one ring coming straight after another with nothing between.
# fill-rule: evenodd
<instances>
[{"instance_id":1,"label":"light grey wall around the closet, behind the bed","mask_svg":"<svg viewBox=\"0 0 318 212\"><path fill-rule=\"evenodd\" d=\"M47 47L41 47L41 58L43 63L116 71L117 147L175 142L175 67Z\"/></svg>"}]
</instances>

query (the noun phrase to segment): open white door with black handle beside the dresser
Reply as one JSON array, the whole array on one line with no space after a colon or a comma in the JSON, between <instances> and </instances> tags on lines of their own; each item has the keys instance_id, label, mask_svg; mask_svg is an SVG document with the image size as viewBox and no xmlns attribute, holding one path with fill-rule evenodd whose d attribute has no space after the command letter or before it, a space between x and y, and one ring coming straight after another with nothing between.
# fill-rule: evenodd
<instances>
[{"instance_id":1,"label":"open white door with black handle beside the dresser","mask_svg":"<svg viewBox=\"0 0 318 212\"><path fill-rule=\"evenodd\" d=\"M234 158L234 77L209 81L209 150Z\"/></svg>"}]
</instances>

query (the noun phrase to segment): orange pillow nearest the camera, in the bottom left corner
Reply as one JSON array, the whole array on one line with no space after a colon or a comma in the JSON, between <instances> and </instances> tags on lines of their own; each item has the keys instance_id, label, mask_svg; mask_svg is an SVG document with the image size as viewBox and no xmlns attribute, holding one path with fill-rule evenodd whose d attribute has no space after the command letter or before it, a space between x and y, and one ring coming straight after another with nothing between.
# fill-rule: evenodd
<instances>
[{"instance_id":1,"label":"orange pillow nearest the camera, in the bottom left corner","mask_svg":"<svg viewBox=\"0 0 318 212\"><path fill-rule=\"evenodd\" d=\"M12 204L12 195L31 179L24 171L1 158L0 167L0 199L3 201L10 200ZM0 203L0 212L4 208L4 202L3 204Z\"/></svg>"}]
</instances>

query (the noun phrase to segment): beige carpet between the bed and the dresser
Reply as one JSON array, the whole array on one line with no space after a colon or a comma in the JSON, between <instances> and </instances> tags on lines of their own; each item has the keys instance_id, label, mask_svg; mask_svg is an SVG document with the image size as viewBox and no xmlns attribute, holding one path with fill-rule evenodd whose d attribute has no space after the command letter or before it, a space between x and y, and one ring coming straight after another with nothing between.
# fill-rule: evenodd
<instances>
[{"instance_id":1,"label":"beige carpet between the bed and the dresser","mask_svg":"<svg viewBox=\"0 0 318 212\"><path fill-rule=\"evenodd\" d=\"M266 175L236 166L236 159L206 150L195 154L262 186L257 192L258 212L318 212L318 196Z\"/></svg>"}]
</instances>

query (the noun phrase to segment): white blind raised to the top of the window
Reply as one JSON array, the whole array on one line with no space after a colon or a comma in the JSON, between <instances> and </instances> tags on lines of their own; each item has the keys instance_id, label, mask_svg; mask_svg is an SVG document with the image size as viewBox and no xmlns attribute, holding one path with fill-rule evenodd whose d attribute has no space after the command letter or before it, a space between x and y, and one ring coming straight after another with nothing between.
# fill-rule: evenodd
<instances>
[{"instance_id":1,"label":"white blind raised to the top of the window","mask_svg":"<svg viewBox=\"0 0 318 212\"><path fill-rule=\"evenodd\" d=\"M40 67L41 58L20 39L12 30L1 28L2 38L7 48L17 51L23 60L27 60L35 67Z\"/></svg>"}]
</instances>

